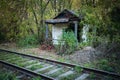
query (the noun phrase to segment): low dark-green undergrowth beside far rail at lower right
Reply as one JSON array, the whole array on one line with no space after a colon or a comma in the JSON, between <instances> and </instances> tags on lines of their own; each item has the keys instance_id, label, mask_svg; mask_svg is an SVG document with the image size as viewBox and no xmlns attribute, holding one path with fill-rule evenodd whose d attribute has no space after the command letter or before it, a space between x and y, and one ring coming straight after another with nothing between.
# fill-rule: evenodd
<instances>
[{"instance_id":1,"label":"low dark-green undergrowth beside far rail at lower right","mask_svg":"<svg viewBox=\"0 0 120 80\"><path fill-rule=\"evenodd\" d=\"M84 66L120 74L119 60L115 60L114 58L103 58L93 61L91 63L86 63L84 64Z\"/></svg>"}]
</instances>

